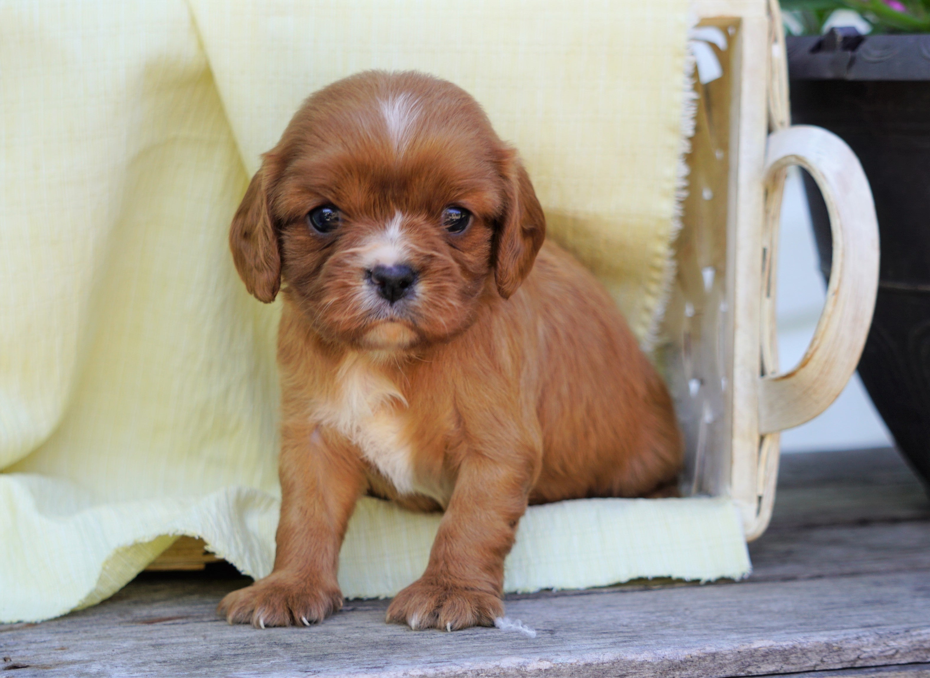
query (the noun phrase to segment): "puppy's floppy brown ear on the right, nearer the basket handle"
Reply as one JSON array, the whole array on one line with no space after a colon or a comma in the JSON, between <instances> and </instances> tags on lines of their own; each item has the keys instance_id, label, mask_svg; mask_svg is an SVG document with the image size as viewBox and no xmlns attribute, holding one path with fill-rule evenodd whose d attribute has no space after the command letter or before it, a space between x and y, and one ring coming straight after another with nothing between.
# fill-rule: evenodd
<instances>
[{"instance_id":1,"label":"puppy's floppy brown ear on the right, nearer the basket handle","mask_svg":"<svg viewBox=\"0 0 930 678\"><path fill-rule=\"evenodd\" d=\"M529 175L512 149L504 153L501 175L506 205L494 239L494 279L500 296L510 299L533 268L546 238L546 218Z\"/></svg>"}]
</instances>

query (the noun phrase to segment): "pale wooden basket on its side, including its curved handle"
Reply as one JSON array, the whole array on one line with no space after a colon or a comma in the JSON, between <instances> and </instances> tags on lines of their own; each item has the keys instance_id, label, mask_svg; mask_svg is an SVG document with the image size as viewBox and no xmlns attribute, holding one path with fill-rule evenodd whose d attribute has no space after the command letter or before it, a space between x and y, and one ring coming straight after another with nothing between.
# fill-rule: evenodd
<instances>
[{"instance_id":1,"label":"pale wooden basket on its side, including its curved handle","mask_svg":"<svg viewBox=\"0 0 930 678\"><path fill-rule=\"evenodd\" d=\"M658 351L687 442L685 493L734 499L753 539L772 514L778 432L820 414L856 369L878 288L878 224L869 183L844 141L790 126L777 0L697 0L695 9L728 45L716 50L723 77L696 85L689 196ZM775 272L790 165L804 166L824 193L833 269L811 345L781 373ZM149 569L198 569L211 560L203 541L179 538Z\"/></svg>"}]
</instances>

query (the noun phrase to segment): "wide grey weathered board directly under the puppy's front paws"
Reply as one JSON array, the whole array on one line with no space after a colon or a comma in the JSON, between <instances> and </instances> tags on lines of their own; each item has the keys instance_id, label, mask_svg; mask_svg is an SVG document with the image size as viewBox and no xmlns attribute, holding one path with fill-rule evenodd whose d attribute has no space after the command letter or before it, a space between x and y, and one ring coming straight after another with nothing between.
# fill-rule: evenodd
<instances>
[{"instance_id":1,"label":"wide grey weathered board directly under the puppy's front paws","mask_svg":"<svg viewBox=\"0 0 930 678\"><path fill-rule=\"evenodd\" d=\"M225 588L140 583L68 618L0 633L18 676L731 676L928 660L926 573L525 598L496 629L409 631L386 602L310 629L230 627ZM219 589L219 590L218 590Z\"/></svg>"}]
</instances>

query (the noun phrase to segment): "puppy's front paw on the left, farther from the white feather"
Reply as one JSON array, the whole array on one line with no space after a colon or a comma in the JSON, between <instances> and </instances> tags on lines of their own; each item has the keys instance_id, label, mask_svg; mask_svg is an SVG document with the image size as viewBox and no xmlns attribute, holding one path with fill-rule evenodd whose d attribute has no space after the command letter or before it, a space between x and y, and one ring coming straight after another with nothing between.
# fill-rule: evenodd
<instances>
[{"instance_id":1,"label":"puppy's front paw on the left, farther from the white feather","mask_svg":"<svg viewBox=\"0 0 930 678\"><path fill-rule=\"evenodd\" d=\"M272 572L245 589L228 593L217 612L231 624L310 626L342 607L342 592L335 585L321 586L314 578Z\"/></svg>"}]
</instances>

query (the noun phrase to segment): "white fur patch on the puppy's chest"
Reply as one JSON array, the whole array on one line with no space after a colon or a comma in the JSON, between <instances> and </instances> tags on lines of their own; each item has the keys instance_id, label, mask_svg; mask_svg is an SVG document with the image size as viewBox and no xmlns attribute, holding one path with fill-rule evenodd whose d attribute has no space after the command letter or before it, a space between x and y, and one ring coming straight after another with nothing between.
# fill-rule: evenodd
<instances>
[{"instance_id":1,"label":"white fur patch on the puppy's chest","mask_svg":"<svg viewBox=\"0 0 930 678\"><path fill-rule=\"evenodd\" d=\"M404 436L404 395L361 353L346 356L337 383L335 397L318 410L320 419L358 445L365 459L399 493L413 492L410 445Z\"/></svg>"}]
</instances>

